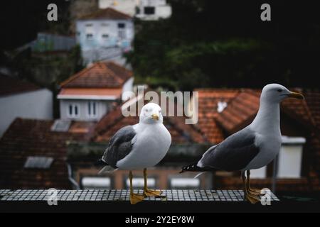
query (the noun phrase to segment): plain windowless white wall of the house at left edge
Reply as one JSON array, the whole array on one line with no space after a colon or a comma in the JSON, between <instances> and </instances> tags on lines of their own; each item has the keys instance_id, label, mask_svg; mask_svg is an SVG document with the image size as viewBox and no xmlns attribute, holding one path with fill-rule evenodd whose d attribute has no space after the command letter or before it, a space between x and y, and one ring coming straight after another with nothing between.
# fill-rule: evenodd
<instances>
[{"instance_id":1,"label":"plain windowless white wall of the house at left edge","mask_svg":"<svg viewBox=\"0 0 320 227\"><path fill-rule=\"evenodd\" d=\"M0 96L0 136L15 118L52 119L53 94L39 89L9 96Z\"/></svg>"}]
</instances>

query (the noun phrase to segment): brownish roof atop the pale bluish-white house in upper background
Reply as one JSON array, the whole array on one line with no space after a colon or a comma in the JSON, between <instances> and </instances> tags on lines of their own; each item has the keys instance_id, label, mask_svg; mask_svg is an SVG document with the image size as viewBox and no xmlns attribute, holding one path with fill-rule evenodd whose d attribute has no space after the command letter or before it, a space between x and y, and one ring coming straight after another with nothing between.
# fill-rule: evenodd
<instances>
[{"instance_id":1,"label":"brownish roof atop the pale bluish-white house in upper background","mask_svg":"<svg viewBox=\"0 0 320 227\"><path fill-rule=\"evenodd\" d=\"M111 20L130 20L132 17L112 8L100 9L94 13L82 16L80 20L87 19L111 19Z\"/></svg>"}]
</instances>

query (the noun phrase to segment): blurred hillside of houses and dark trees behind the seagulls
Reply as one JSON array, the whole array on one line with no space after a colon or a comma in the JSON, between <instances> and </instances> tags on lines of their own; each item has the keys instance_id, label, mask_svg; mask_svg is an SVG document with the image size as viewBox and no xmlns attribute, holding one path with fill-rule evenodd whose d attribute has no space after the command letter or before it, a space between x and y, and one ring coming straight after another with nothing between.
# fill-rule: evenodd
<instances>
[{"instance_id":1,"label":"blurred hillside of houses and dark trees behind the seagulls","mask_svg":"<svg viewBox=\"0 0 320 227\"><path fill-rule=\"evenodd\" d=\"M313 2L70 0L1 6L0 188L127 189L127 172L95 162L122 126L124 92L199 92L198 123L165 118L173 144L149 187L240 189L240 173L178 174L211 145L247 126L263 86L302 92L284 101L277 160L252 171L253 187L320 192L320 19ZM48 21L49 4L58 21ZM53 12L54 13L54 12ZM128 101L129 100L129 101ZM139 111L139 110L138 110ZM142 172L134 172L142 187Z\"/></svg>"}]
</instances>

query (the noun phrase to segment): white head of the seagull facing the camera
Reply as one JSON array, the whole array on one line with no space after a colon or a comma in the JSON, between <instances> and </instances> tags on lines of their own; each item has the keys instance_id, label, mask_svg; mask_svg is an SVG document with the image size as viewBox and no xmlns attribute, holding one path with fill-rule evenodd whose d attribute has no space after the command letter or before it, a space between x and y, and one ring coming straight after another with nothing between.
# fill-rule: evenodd
<instances>
[{"instance_id":1,"label":"white head of the seagull facing the camera","mask_svg":"<svg viewBox=\"0 0 320 227\"><path fill-rule=\"evenodd\" d=\"M158 104L149 103L142 107L140 122L142 123L162 123L164 117L161 114L161 107Z\"/></svg>"}]
</instances>

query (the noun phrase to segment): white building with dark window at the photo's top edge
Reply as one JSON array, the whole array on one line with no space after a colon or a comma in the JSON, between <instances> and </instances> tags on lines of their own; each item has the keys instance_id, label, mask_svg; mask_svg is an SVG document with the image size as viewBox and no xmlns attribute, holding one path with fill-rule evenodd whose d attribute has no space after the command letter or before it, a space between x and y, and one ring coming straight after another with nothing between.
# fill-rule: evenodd
<instances>
[{"instance_id":1,"label":"white building with dark window at the photo's top edge","mask_svg":"<svg viewBox=\"0 0 320 227\"><path fill-rule=\"evenodd\" d=\"M171 16L172 9L166 0L140 0L137 6L137 18L144 21L156 21Z\"/></svg>"}]
</instances>

